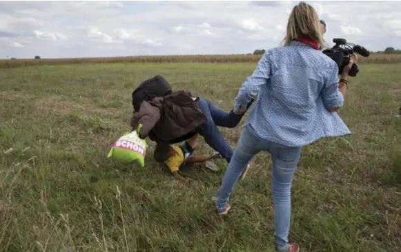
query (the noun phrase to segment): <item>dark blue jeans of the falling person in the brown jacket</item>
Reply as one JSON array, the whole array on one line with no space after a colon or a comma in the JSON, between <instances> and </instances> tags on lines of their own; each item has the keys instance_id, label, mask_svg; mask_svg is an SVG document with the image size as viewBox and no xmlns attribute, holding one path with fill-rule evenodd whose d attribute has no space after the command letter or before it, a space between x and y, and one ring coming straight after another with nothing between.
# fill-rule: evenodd
<instances>
[{"instance_id":1,"label":"dark blue jeans of the falling person in the brown jacket","mask_svg":"<svg viewBox=\"0 0 401 252\"><path fill-rule=\"evenodd\" d=\"M198 98L196 103L202 110L204 116L206 116L206 123L201 125L197 129L197 132L204 137L208 145L219 152L223 158L226 158L227 162L230 162L234 151L231 146L228 145L217 126L233 128L238 125L245 113L237 115L233 112L233 109L227 113L204 98ZM251 106L252 103L253 101L248 104L248 107Z\"/></svg>"}]
</instances>

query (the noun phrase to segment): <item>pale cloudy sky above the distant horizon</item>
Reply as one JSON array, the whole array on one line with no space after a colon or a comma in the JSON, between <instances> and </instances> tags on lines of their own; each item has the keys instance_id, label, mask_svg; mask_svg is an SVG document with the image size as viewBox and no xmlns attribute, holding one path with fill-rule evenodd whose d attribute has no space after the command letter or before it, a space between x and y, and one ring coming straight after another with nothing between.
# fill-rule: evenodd
<instances>
[{"instance_id":1,"label":"pale cloudy sky above the distant horizon","mask_svg":"<svg viewBox=\"0 0 401 252\"><path fill-rule=\"evenodd\" d=\"M401 1L306 1L326 41L401 48ZM299 1L0 1L0 59L246 54L280 46Z\"/></svg>"}]
</instances>

